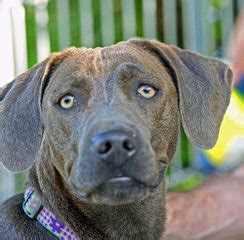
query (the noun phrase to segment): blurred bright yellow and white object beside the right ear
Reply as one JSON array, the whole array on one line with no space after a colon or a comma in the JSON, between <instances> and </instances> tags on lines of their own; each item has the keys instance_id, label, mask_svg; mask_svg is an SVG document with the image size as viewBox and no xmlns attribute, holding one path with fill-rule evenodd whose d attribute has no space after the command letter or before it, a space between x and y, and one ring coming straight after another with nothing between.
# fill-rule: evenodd
<instances>
[{"instance_id":1,"label":"blurred bright yellow and white object beside the right ear","mask_svg":"<svg viewBox=\"0 0 244 240\"><path fill-rule=\"evenodd\" d=\"M217 167L244 162L244 97L237 90L232 91L218 141L205 154L209 162Z\"/></svg>"}]
</instances>

